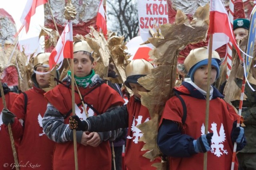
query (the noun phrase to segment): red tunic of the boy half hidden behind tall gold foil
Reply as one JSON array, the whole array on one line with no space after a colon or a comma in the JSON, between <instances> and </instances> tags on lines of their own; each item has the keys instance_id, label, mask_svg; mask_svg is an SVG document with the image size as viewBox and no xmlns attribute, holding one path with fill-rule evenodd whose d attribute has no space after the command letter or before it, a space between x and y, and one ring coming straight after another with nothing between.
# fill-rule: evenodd
<instances>
[{"instance_id":1,"label":"red tunic of the boy half hidden behind tall gold foil","mask_svg":"<svg viewBox=\"0 0 256 170\"><path fill-rule=\"evenodd\" d=\"M148 150L141 151L144 146L144 142L140 142L138 139L140 139L143 134L135 127L150 120L148 108L142 106L140 102L135 102L135 98L132 96L127 104L127 110L129 114L129 128L126 140L126 152L124 156L126 167L128 170L156 170L156 168L151 165L161 162L161 159L159 157L153 162L150 162L150 159L142 156Z\"/></svg>"}]
</instances>

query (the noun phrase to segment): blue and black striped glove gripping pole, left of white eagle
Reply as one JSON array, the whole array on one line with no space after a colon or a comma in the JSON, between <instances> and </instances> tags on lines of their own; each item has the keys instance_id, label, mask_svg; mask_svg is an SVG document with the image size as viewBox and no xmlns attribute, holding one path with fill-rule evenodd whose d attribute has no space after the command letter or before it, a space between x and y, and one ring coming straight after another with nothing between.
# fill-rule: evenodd
<instances>
[{"instance_id":1,"label":"blue and black striped glove gripping pole, left of white eagle","mask_svg":"<svg viewBox=\"0 0 256 170\"><path fill-rule=\"evenodd\" d=\"M211 149L211 139L212 139L213 133L208 133L206 135L200 136L197 140L193 141L195 151L197 153L201 152L207 152Z\"/></svg>"}]
</instances>

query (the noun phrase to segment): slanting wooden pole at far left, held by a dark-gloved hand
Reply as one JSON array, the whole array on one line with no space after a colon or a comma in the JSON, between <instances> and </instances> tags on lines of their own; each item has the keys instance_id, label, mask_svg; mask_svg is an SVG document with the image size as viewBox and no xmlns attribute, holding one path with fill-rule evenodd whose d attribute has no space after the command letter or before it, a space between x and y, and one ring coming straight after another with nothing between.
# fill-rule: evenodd
<instances>
[{"instance_id":1,"label":"slanting wooden pole at far left, held by a dark-gloved hand","mask_svg":"<svg viewBox=\"0 0 256 170\"><path fill-rule=\"evenodd\" d=\"M2 101L3 101L4 108L7 109L6 101L5 101L5 96L4 96L4 89L3 89L1 81L0 81L0 91L1 91L1 96L2 96ZM14 162L15 162L15 165L16 165L15 168L16 168L16 170L20 170L20 167L18 166L19 162L18 162L18 157L17 157L17 152L16 152L16 149L15 149L15 145L14 145L14 139L13 139L13 135L12 135L11 124L9 123L7 125L7 127L8 127L8 132L9 132L9 135L10 135Z\"/></svg>"}]
</instances>

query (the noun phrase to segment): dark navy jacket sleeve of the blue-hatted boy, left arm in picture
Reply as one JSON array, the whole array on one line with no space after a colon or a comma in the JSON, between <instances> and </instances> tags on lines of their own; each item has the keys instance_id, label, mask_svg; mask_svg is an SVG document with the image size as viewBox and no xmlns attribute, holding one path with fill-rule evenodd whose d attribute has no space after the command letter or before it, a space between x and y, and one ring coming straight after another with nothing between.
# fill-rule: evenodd
<instances>
[{"instance_id":1,"label":"dark navy jacket sleeve of the blue-hatted boy, left arm in picture","mask_svg":"<svg viewBox=\"0 0 256 170\"><path fill-rule=\"evenodd\" d=\"M172 157L189 157L196 154L193 145L194 138L181 133L178 123L163 119L157 137L161 152Z\"/></svg>"}]
</instances>

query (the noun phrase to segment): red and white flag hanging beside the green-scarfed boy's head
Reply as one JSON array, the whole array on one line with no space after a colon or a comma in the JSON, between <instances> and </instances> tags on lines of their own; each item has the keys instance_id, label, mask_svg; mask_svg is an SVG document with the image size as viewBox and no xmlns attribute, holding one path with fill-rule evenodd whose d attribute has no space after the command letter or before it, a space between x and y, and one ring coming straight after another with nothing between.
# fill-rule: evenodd
<instances>
[{"instance_id":1,"label":"red and white flag hanging beside the green-scarfed boy's head","mask_svg":"<svg viewBox=\"0 0 256 170\"><path fill-rule=\"evenodd\" d=\"M56 47L52 50L49 57L50 70L64 59L73 58L73 31L72 22L68 22L65 26Z\"/></svg>"}]
</instances>

